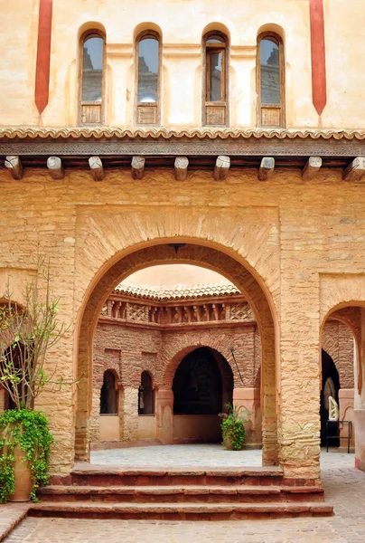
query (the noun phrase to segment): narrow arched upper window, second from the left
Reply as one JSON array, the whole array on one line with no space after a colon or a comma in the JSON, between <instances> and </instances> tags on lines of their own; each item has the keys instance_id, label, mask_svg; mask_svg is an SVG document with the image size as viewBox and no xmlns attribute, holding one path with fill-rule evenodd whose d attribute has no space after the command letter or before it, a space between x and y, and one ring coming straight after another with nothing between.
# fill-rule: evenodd
<instances>
[{"instance_id":1,"label":"narrow arched upper window, second from the left","mask_svg":"<svg viewBox=\"0 0 365 543\"><path fill-rule=\"evenodd\" d=\"M137 39L136 122L160 122L160 36L153 31Z\"/></svg>"}]
</instances>

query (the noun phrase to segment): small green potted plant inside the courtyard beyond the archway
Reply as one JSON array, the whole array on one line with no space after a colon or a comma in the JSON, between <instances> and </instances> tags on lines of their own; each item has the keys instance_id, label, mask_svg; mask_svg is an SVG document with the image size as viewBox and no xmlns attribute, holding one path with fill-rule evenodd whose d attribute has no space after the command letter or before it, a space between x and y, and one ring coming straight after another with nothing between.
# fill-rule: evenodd
<instances>
[{"instance_id":1,"label":"small green potted plant inside the courtyard beyond the archway","mask_svg":"<svg viewBox=\"0 0 365 543\"><path fill-rule=\"evenodd\" d=\"M241 451L246 442L248 410L243 405L226 404L224 407L227 412L220 414L222 442L228 451Z\"/></svg>"}]
</instances>

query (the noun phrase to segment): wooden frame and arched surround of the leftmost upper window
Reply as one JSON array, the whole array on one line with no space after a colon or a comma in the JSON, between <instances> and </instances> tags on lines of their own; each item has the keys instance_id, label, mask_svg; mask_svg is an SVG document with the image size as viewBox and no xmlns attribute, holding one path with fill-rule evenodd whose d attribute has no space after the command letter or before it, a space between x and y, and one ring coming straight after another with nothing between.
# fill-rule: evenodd
<instances>
[{"instance_id":1,"label":"wooden frame and arched surround of the leftmost upper window","mask_svg":"<svg viewBox=\"0 0 365 543\"><path fill-rule=\"evenodd\" d=\"M100 102L94 100L82 100L82 90L83 90L83 81L84 81L84 44L90 38L101 38L103 40L103 65L102 65L102 75L101 75L101 100ZM90 29L84 32L80 37L79 43L79 108L78 108L78 121L80 125L83 126L102 126L105 124L105 97L106 97L106 84L107 84L107 40L105 33L97 30ZM100 120L98 122L88 122L84 121L83 118L83 109L88 106L97 106L100 105Z\"/></svg>"}]
</instances>

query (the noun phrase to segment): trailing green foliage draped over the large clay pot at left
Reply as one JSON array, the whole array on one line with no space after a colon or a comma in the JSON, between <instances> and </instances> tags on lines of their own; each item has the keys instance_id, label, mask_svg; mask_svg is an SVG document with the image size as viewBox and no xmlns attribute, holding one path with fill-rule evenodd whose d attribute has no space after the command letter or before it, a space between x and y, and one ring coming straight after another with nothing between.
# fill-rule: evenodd
<instances>
[{"instance_id":1,"label":"trailing green foliage draped over the large clay pot at left","mask_svg":"<svg viewBox=\"0 0 365 543\"><path fill-rule=\"evenodd\" d=\"M0 502L14 493L14 449L20 445L32 472L31 500L37 500L35 492L48 483L53 437L44 414L30 409L10 409L0 415ZM25 461L25 459L24 459Z\"/></svg>"}]
</instances>

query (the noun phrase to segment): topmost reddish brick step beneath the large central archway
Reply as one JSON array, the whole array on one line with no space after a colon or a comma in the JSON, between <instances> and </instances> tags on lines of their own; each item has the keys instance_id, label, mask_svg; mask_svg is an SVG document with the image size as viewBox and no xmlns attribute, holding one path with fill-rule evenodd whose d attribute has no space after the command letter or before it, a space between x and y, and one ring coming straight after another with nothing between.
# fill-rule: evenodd
<instances>
[{"instance_id":1,"label":"topmost reddish brick step beneath the large central archway","mask_svg":"<svg viewBox=\"0 0 365 543\"><path fill-rule=\"evenodd\" d=\"M248 485L271 486L281 485L283 472L273 468L220 468L201 469L118 469L116 467L97 466L92 464L75 468L70 476L51 477L51 484L80 486L186 486L186 485ZM300 481L298 481L300 484Z\"/></svg>"}]
</instances>

